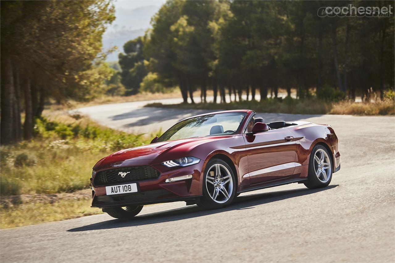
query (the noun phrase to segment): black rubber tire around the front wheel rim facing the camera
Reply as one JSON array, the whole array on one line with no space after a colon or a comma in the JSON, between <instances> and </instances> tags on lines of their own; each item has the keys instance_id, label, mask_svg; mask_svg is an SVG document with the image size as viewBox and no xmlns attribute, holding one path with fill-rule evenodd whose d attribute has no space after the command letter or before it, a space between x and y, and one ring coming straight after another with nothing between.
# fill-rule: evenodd
<instances>
[{"instance_id":1,"label":"black rubber tire around the front wheel rim facing the camera","mask_svg":"<svg viewBox=\"0 0 395 263\"><path fill-rule=\"evenodd\" d=\"M226 201L225 203L217 203L216 201L214 201L211 198L211 195L209 194L209 192L207 190L207 187L206 187L207 174L209 172L209 169L215 164L224 165L229 170L229 173L231 175L231 180L233 182L232 192L230 193L230 197L229 197L228 201ZM211 159L207 163L206 169L205 169L205 172L204 172L204 175L203 175L203 196L200 197L197 200L196 204L199 207L202 207L203 209L219 209L219 208L222 208L222 207L226 207L227 205L232 203L233 198L235 197L235 194L236 194L236 188L237 188L237 183L236 183L236 180L235 180L235 175L233 174L233 171L230 168L230 166L228 165L228 163L226 163L225 161L223 161L221 159L216 159L216 158Z\"/></svg>"}]
</instances>

